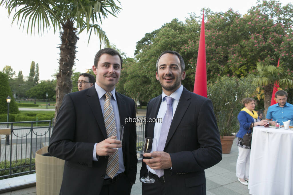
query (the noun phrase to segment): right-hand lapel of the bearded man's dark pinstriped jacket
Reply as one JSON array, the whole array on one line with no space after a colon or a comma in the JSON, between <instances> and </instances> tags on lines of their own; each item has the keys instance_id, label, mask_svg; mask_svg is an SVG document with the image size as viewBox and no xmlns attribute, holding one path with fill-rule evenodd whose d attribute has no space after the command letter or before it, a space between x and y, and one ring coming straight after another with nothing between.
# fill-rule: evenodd
<instances>
[{"instance_id":1,"label":"right-hand lapel of the bearded man's dark pinstriped jacket","mask_svg":"<svg viewBox=\"0 0 293 195\"><path fill-rule=\"evenodd\" d=\"M190 94L189 91L183 88L182 94L180 96L174 117L171 122L171 126L168 132L168 137L166 140L165 147L167 146L168 142L170 141L171 137L173 136L174 132L176 131L179 123L181 122L183 115L185 114L189 104L190 104Z\"/></svg>"}]
</instances>

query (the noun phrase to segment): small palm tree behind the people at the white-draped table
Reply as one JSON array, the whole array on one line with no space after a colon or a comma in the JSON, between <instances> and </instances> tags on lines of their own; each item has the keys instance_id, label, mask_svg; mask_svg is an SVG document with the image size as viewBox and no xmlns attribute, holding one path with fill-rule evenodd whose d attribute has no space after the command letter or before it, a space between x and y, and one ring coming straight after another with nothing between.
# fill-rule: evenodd
<instances>
[{"instance_id":1,"label":"small palm tree behind the people at the white-draped table","mask_svg":"<svg viewBox=\"0 0 293 195\"><path fill-rule=\"evenodd\" d=\"M263 65L262 63L257 63L258 74L253 79L253 84L258 86L264 86L264 114L266 115L268 108L271 103L272 91L275 81L278 81L280 87L293 87L293 77L291 71L285 70L282 66L274 65Z\"/></svg>"}]
</instances>

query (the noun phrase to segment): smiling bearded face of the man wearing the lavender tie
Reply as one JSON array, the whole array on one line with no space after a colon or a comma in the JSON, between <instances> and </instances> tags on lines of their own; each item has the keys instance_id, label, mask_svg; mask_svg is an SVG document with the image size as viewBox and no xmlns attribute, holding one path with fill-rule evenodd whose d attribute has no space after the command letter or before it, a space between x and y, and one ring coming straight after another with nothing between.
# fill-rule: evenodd
<instances>
[{"instance_id":1,"label":"smiling bearded face of the man wearing the lavender tie","mask_svg":"<svg viewBox=\"0 0 293 195\"><path fill-rule=\"evenodd\" d=\"M175 54L166 53L158 61L156 79L159 80L163 92L171 95L181 86L181 80L185 78L185 71L181 71L180 61Z\"/></svg>"}]
</instances>

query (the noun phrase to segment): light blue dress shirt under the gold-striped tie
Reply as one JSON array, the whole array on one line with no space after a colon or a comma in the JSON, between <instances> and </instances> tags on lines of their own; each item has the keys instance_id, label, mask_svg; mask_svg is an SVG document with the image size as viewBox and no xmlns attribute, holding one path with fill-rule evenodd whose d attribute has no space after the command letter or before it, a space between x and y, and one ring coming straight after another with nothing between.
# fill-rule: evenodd
<instances>
[{"instance_id":1,"label":"light blue dress shirt under the gold-striped tie","mask_svg":"<svg viewBox=\"0 0 293 195\"><path fill-rule=\"evenodd\" d=\"M96 91L98 93L100 105L101 105L101 108L102 108L102 113L103 113L103 116L104 116L104 102L105 102L105 99L106 99L106 97L105 97L106 91L102 87L98 86L97 83L95 83L95 88L96 88ZM113 111L114 111L116 129L118 129L120 127L120 117L119 117L118 104L117 104L117 101L116 101L115 88L110 92L112 93L111 104L112 104ZM117 131L117 137L118 137L118 139L120 138L120 132L119 131ZM93 147L93 161L98 161L98 158L96 157L96 145L97 145L97 143ZM119 173L122 173L122 172L125 171L124 162L123 162L122 148L118 149L118 154L119 154L119 170L117 171L116 175L118 175ZM108 175L105 175L105 179L108 179L108 178L110 178L110 177Z\"/></svg>"}]
</instances>

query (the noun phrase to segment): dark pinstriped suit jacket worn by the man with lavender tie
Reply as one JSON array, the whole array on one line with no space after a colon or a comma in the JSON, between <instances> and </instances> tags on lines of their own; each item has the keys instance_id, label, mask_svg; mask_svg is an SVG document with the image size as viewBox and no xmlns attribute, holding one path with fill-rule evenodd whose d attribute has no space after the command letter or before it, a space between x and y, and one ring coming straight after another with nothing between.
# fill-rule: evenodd
<instances>
[{"instance_id":1,"label":"dark pinstriped suit jacket worn by the man with lavender tie","mask_svg":"<svg viewBox=\"0 0 293 195\"><path fill-rule=\"evenodd\" d=\"M149 101L147 121L157 118L162 95ZM146 125L145 137L154 137L154 122ZM165 145L172 170L165 169L166 194L206 194L205 169L222 160L222 146L212 101L183 89ZM140 177L147 175L142 162Z\"/></svg>"}]
</instances>

